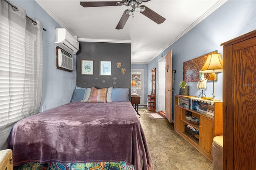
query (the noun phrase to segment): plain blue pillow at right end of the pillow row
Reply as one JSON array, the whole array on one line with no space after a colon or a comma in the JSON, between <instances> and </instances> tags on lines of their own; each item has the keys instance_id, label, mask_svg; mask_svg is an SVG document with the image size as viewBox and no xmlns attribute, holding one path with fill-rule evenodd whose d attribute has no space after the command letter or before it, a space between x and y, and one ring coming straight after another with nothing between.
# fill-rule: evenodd
<instances>
[{"instance_id":1,"label":"plain blue pillow at right end of the pillow row","mask_svg":"<svg viewBox=\"0 0 256 170\"><path fill-rule=\"evenodd\" d=\"M111 101L129 101L129 89L128 88L114 88L111 93Z\"/></svg>"}]
</instances>

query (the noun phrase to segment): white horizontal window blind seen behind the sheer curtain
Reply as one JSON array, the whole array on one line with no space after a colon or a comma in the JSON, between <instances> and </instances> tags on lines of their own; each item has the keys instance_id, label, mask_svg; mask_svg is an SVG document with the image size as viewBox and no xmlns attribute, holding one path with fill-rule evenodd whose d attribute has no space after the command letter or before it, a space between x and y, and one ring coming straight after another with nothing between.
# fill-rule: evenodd
<instances>
[{"instance_id":1,"label":"white horizontal window blind seen behind the sheer curtain","mask_svg":"<svg viewBox=\"0 0 256 170\"><path fill-rule=\"evenodd\" d=\"M1 18L0 130L23 118L25 29Z\"/></svg>"}]
</instances>

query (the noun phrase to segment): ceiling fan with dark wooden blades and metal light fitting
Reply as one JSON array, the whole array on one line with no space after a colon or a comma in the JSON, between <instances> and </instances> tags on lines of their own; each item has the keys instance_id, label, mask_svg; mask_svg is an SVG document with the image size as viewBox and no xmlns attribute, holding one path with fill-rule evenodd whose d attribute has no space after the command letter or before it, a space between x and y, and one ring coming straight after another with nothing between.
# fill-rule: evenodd
<instances>
[{"instance_id":1,"label":"ceiling fan with dark wooden blades and metal light fitting","mask_svg":"<svg viewBox=\"0 0 256 170\"><path fill-rule=\"evenodd\" d=\"M161 24L165 18L151 10L150 8L141 5L142 2L148 2L150 0L122 0L122 1L95 1L95 2L80 2L83 7L100 7L100 6L128 6L128 9L124 11L120 21L118 22L116 29L120 30L124 28L129 16L134 17L134 12L141 12L144 16L150 20Z\"/></svg>"}]
</instances>

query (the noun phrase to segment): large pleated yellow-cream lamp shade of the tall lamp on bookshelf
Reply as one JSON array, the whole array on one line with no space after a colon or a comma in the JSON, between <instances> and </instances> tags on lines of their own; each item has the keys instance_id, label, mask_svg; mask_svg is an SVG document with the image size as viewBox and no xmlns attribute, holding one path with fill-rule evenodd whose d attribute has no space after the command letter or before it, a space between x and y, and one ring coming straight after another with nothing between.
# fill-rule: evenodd
<instances>
[{"instance_id":1,"label":"large pleated yellow-cream lamp shade of the tall lamp on bookshelf","mask_svg":"<svg viewBox=\"0 0 256 170\"><path fill-rule=\"evenodd\" d=\"M223 71L223 61L220 53L210 54L199 71L200 73L218 73Z\"/></svg>"}]
</instances>

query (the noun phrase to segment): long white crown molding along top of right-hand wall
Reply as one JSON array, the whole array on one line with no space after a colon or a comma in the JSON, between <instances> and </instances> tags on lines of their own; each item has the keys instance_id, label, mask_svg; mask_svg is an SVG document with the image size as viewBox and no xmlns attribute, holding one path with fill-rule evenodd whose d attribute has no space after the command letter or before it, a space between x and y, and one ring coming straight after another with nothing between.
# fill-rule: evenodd
<instances>
[{"instance_id":1,"label":"long white crown molding along top of right-hand wall","mask_svg":"<svg viewBox=\"0 0 256 170\"><path fill-rule=\"evenodd\" d=\"M150 61L147 62L150 63L154 58L156 58L158 55L160 55L162 52L164 52L164 50L166 50L168 47L170 47L174 42L176 42L178 39L180 39L182 36L184 36L187 32L189 32L190 30L192 30L192 28L194 28L197 24L199 24L200 22L202 22L202 20L204 20L206 17L208 17L210 14L212 14L212 12L214 12L215 10L217 10L220 6L222 6L225 2L227 2L228 0L219 0L218 2L216 2L216 4L214 4L214 6L212 6L212 8L210 8L208 11L206 11L202 16L200 16L200 18L198 18L195 22L193 22L188 28L186 28L183 32L181 32L174 40L172 40L170 43L168 43L162 50L160 50L159 53L157 53Z\"/></svg>"}]
</instances>

